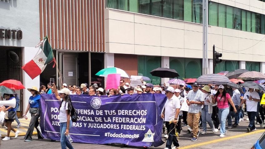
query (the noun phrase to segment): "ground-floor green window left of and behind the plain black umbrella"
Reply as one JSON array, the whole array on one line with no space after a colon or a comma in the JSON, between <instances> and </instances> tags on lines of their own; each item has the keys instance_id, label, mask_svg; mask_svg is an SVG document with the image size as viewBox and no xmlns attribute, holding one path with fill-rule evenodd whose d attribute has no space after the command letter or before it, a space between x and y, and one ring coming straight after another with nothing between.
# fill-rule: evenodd
<instances>
[{"instance_id":1,"label":"ground-floor green window left of and behind the plain black umbrella","mask_svg":"<svg viewBox=\"0 0 265 149\"><path fill-rule=\"evenodd\" d=\"M138 75L143 75L149 77L153 84L161 83L160 77L152 76L149 72L153 69L161 67L161 57L153 57L153 56L138 56Z\"/></svg>"}]
</instances>

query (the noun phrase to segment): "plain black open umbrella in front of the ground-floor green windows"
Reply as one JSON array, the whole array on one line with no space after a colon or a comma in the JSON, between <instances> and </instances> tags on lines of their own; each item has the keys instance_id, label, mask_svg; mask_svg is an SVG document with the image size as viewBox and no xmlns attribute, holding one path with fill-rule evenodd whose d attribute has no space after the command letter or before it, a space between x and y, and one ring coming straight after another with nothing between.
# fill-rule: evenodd
<instances>
[{"instance_id":1,"label":"plain black open umbrella in front of the ground-floor green windows","mask_svg":"<svg viewBox=\"0 0 265 149\"><path fill-rule=\"evenodd\" d=\"M152 76L156 76L156 77L169 77L169 78L174 78L174 77L179 77L178 72L176 72L176 70L174 69L170 69L170 68L157 68L154 69L150 72L152 74Z\"/></svg>"}]
</instances>

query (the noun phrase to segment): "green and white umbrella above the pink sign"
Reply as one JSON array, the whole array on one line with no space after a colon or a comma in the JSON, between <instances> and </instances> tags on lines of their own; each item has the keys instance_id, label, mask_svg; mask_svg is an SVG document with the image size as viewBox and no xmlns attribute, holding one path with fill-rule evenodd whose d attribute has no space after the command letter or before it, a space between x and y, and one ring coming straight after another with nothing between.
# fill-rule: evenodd
<instances>
[{"instance_id":1,"label":"green and white umbrella above the pink sign","mask_svg":"<svg viewBox=\"0 0 265 149\"><path fill-rule=\"evenodd\" d=\"M108 77L108 74L114 74L114 73L121 74L121 77L130 78L130 76L124 70L117 67L102 69L98 73L96 73L96 75L100 77Z\"/></svg>"}]
</instances>

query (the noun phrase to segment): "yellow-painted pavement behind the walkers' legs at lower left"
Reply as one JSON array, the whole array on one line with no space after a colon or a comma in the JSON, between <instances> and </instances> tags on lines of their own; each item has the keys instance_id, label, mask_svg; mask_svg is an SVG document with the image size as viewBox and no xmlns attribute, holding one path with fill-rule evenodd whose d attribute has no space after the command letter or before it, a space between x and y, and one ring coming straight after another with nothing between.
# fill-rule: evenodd
<instances>
[{"instance_id":1,"label":"yellow-painted pavement behind the walkers' legs at lower left","mask_svg":"<svg viewBox=\"0 0 265 149\"><path fill-rule=\"evenodd\" d=\"M12 127L14 129L20 131L18 136L25 136L26 132L27 132L27 129L28 129L28 126L29 126L30 119L26 120L24 118L20 118L19 121L20 121L20 124L21 124L21 126L19 128L16 128L16 126L17 126L17 122L16 121L12 122ZM8 132L8 130L5 127L1 127L0 128L0 133L1 133L2 137L6 137L7 136L7 132ZM33 135L37 135L36 128L34 128ZM13 131L10 132L10 137L15 137L15 133Z\"/></svg>"}]
</instances>

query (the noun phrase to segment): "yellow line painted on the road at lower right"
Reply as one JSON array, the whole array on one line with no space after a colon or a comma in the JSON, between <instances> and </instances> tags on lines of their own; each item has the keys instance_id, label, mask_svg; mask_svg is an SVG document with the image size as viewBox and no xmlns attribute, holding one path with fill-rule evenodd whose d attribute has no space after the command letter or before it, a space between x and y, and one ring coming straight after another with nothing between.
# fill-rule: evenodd
<instances>
[{"instance_id":1,"label":"yellow line painted on the road at lower right","mask_svg":"<svg viewBox=\"0 0 265 149\"><path fill-rule=\"evenodd\" d=\"M216 139L216 140L212 140L212 141L207 141L207 142L202 142L202 143L188 145L188 146L185 146L185 147L181 147L181 149L198 147L198 146L207 145L207 144L211 144L211 143L216 143L216 142L221 142L221 141L230 140L230 139L234 139L234 138L244 137L244 136L248 136L248 135L252 135L252 134L260 133L260 132L264 132L264 131L265 130L262 129L262 130L256 130L256 131L253 131L253 132L248 132L248 133L246 132L246 133L235 135L235 136L231 136L231 137L223 137L221 139Z\"/></svg>"}]
</instances>

